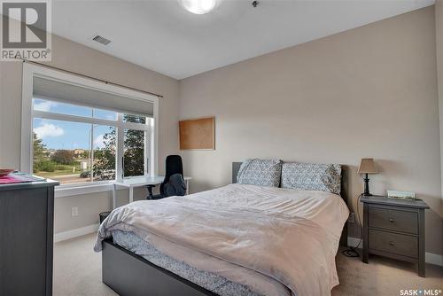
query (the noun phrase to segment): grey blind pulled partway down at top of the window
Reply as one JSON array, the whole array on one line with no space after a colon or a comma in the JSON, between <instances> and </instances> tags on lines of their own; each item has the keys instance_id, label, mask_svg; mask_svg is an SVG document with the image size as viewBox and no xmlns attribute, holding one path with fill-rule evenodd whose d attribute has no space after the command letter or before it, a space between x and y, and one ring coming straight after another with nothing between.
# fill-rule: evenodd
<instances>
[{"instance_id":1,"label":"grey blind pulled partway down at top of the window","mask_svg":"<svg viewBox=\"0 0 443 296\"><path fill-rule=\"evenodd\" d=\"M67 104L85 105L118 113L153 117L153 103L136 97L123 97L65 82L34 77L33 95Z\"/></svg>"}]
</instances>

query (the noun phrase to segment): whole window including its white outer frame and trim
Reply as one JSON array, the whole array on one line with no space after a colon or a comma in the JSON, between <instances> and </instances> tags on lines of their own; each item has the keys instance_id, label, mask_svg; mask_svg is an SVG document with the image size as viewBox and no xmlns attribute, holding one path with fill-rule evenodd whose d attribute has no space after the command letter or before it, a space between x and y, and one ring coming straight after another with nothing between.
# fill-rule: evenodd
<instances>
[{"instance_id":1,"label":"whole window including its white outer frame and trim","mask_svg":"<svg viewBox=\"0 0 443 296\"><path fill-rule=\"evenodd\" d=\"M158 97L25 64L20 170L58 190L154 175L157 112Z\"/></svg>"}]
</instances>

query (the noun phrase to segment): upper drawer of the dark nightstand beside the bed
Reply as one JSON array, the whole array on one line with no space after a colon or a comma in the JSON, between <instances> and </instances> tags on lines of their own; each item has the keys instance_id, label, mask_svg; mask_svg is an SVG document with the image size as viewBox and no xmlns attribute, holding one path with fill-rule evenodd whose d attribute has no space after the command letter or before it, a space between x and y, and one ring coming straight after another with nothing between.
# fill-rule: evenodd
<instances>
[{"instance_id":1,"label":"upper drawer of the dark nightstand beside the bed","mask_svg":"<svg viewBox=\"0 0 443 296\"><path fill-rule=\"evenodd\" d=\"M395 209L369 206L369 227L418 233L418 215Z\"/></svg>"}]
</instances>

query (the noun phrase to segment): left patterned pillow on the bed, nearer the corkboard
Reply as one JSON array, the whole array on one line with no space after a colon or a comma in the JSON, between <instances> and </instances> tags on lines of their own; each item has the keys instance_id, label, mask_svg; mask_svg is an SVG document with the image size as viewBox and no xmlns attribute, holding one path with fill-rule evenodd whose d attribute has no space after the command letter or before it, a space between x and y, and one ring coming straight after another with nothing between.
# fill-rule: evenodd
<instances>
[{"instance_id":1,"label":"left patterned pillow on the bed, nearer the corkboard","mask_svg":"<svg viewBox=\"0 0 443 296\"><path fill-rule=\"evenodd\" d=\"M237 183L278 187L281 175L281 160L250 159L245 160L238 170Z\"/></svg>"}]
</instances>

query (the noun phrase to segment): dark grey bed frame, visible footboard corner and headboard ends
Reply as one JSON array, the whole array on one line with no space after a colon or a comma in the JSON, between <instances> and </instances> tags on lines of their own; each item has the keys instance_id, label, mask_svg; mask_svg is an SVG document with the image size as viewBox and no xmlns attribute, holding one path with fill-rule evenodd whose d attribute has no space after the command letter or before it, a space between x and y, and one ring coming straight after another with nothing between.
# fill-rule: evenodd
<instances>
[{"instance_id":1,"label":"dark grey bed frame, visible footboard corner and headboard ends","mask_svg":"<svg viewBox=\"0 0 443 296\"><path fill-rule=\"evenodd\" d=\"M241 162L232 163L232 183L237 182ZM341 197L347 204L347 167L342 167ZM340 245L347 245L347 227L343 229ZM120 296L203 296L214 292L194 284L173 272L160 268L143 257L129 252L113 239L102 242L102 281Z\"/></svg>"}]
</instances>

